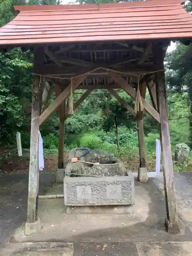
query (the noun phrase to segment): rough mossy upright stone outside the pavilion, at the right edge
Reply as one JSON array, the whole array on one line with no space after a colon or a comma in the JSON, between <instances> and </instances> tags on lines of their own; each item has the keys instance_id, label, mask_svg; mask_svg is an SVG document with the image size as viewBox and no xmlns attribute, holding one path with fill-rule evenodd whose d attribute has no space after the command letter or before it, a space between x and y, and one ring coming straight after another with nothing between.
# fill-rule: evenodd
<instances>
[{"instance_id":1,"label":"rough mossy upright stone outside the pavilion, at the right edge","mask_svg":"<svg viewBox=\"0 0 192 256\"><path fill-rule=\"evenodd\" d=\"M190 148L185 143L180 143L176 145L175 149L175 161L179 164L188 164Z\"/></svg>"}]
</instances>

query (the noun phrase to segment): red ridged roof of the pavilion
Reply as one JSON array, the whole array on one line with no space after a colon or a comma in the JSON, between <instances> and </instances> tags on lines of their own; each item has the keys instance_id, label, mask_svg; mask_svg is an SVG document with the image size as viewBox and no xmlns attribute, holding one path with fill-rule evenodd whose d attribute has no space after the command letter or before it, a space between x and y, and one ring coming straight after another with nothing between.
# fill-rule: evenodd
<instances>
[{"instance_id":1,"label":"red ridged roof of the pavilion","mask_svg":"<svg viewBox=\"0 0 192 256\"><path fill-rule=\"evenodd\" d=\"M0 28L0 45L190 38L192 16L182 2L16 6L19 14Z\"/></svg>"}]
</instances>

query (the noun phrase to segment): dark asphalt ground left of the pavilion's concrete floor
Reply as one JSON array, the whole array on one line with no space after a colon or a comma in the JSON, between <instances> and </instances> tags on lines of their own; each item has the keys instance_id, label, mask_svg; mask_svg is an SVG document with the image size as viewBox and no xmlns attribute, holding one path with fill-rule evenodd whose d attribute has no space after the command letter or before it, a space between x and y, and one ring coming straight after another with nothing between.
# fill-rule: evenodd
<instances>
[{"instance_id":1,"label":"dark asphalt ground left of the pavilion's concrete floor","mask_svg":"<svg viewBox=\"0 0 192 256\"><path fill-rule=\"evenodd\" d=\"M11 239L27 215L28 174L0 174L0 247ZM54 181L52 174L40 174L39 192Z\"/></svg>"}]
</instances>

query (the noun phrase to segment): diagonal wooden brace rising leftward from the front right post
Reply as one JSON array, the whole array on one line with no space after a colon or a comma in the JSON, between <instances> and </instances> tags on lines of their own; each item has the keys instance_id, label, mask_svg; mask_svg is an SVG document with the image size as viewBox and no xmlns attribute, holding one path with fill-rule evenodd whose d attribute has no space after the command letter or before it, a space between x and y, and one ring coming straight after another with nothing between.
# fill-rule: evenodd
<instances>
[{"instance_id":1,"label":"diagonal wooden brace rising leftward from the front right post","mask_svg":"<svg viewBox=\"0 0 192 256\"><path fill-rule=\"evenodd\" d=\"M121 86L121 88L127 94L129 94L134 100L136 99L137 92L117 72L110 71L109 75L114 79L115 82L117 82ZM159 113L143 97L142 101L145 111L160 123Z\"/></svg>"}]
</instances>

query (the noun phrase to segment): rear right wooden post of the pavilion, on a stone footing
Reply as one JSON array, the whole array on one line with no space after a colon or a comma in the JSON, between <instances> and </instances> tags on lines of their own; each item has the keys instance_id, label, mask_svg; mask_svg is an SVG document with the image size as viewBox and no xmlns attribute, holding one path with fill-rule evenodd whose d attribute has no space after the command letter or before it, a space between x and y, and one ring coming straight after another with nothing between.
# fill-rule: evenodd
<instances>
[{"instance_id":1,"label":"rear right wooden post of the pavilion, on a stone footing","mask_svg":"<svg viewBox=\"0 0 192 256\"><path fill-rule=\"evenodd\" d=\"M146 83L140 84L141 96L145 99L146 95ZM143 111L137 113L137 126L138 126L138 142L139 142L139 169L138 180L140 182L147 182L148 175L146 170L145 161L145 145L144 145L144 130L143 130Z\"/></svg>"}]
</instances>

